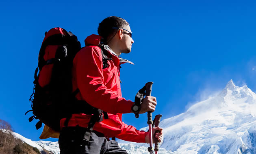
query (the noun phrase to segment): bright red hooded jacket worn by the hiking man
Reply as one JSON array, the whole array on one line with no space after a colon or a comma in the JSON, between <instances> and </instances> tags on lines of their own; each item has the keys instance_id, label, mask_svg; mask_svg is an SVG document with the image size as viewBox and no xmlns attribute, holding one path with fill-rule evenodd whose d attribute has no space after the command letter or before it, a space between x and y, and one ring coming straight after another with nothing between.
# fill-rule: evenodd
<instances>
[{"instance_id":1,"label":"bright red hooded jacket worn by the hiking man","mask_svg":"<svg viewBox=\"0 0 256 154\"><path fill-rule=\"evenodd\" d=\"M117 137L126 141L145 142L147 132L139 131L133 126L122 122L122 113L130 113L132 101L127 101L121 96L120 86L120 60L110 49L108 67L102 69L102 53L100 36L91 35L85 39L85 45L73 60L72 84L73 91L77 88L78 100L85 100L91 106L106 111L108 119L96 122L93 130L101 132L105 137ZM84 113L73 114L68 126L87 127L91 115ZM64 126L65 118L61 120Z\"/></svg>"}]
</instances>

